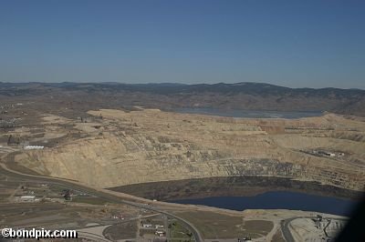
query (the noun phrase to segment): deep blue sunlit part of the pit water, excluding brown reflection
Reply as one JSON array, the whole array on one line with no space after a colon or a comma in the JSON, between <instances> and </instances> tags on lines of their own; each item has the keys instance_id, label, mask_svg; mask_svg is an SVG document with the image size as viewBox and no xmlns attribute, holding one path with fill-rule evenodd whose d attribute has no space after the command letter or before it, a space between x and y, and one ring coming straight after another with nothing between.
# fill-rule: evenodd
<instances>
[{"instance_id":1,"label":"deep blue sunlit part of the pit water, excluding brown reflection","mask_svg":"<svg viewBox=\"0 0 365 242\"><path fill-rule=\"evenodd\" d=\"M170 200L178 204L193 204L242 211L245 209L291 209L349 216L356 206L353 200L322 197L290 191L270 191L254 197L204 197Z\"/></svg>"}]
</instances>

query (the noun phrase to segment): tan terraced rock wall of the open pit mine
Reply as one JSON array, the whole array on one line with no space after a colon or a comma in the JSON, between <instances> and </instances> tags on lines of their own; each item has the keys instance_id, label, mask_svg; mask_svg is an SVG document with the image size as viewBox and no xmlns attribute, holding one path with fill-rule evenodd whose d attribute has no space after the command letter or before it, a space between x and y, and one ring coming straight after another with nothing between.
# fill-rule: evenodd
<instances>
[{"instance_id":1,"label":"tan terraced rock wall of the open pit mine","mask_svg":"<svg viewBox=\"0 0 365 242\"><path fill-rule=\"evenodd\" d=\"M357 190L365 185L365 143L351 138L363 136L365 123L342 116L238 119L159 110L89 114L102 119L75 125L88 137L27 151L16 162L96 187L242 175L295 177ZM310 153L317 149L345 155Z\"/></svg>"}]
</instances>

